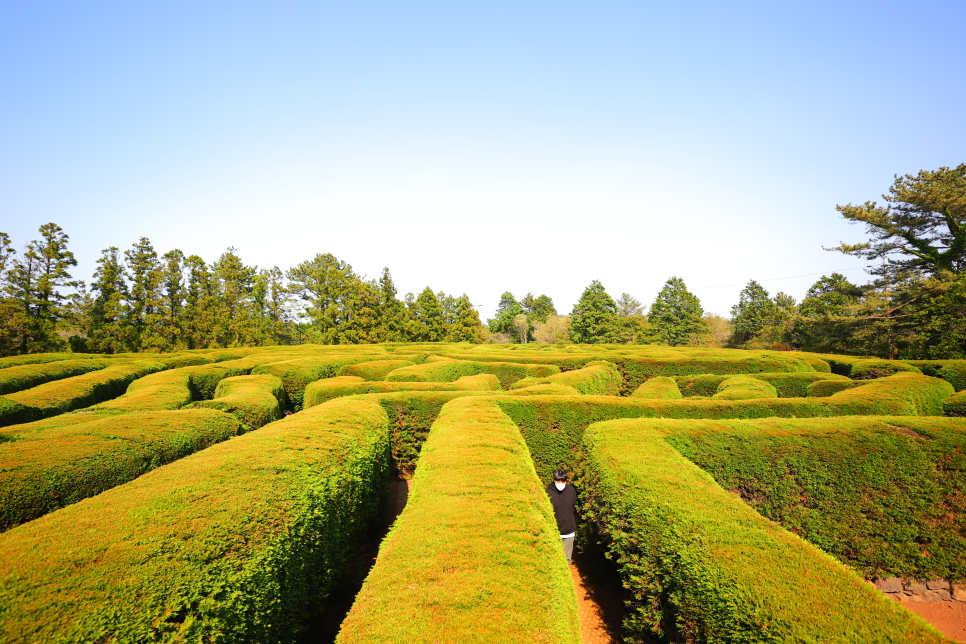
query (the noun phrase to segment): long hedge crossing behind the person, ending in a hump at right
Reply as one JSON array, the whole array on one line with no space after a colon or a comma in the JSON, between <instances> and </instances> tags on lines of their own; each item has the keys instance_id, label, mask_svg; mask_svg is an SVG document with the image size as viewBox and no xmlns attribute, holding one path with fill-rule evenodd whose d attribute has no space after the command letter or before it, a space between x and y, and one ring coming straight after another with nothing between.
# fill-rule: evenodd
<instances>
[{"instance_id":1,"label":"long hedge crossing behind the person, ending in a hump at right","mask_svg":"<svg viewBox=\"0 0 966 644\"><path fill-rule=\"evenodd\" d=\"M937 416L952 386L938 378L902 373L869 381L828 398L759 400L646 400L599 396L504 396L501 409L520 426L537 472L549 479L570 467L584 429L612 418L809 418L830 416ZM552 429L552 431L547 431Z\"/></svg>"}]
</instances>

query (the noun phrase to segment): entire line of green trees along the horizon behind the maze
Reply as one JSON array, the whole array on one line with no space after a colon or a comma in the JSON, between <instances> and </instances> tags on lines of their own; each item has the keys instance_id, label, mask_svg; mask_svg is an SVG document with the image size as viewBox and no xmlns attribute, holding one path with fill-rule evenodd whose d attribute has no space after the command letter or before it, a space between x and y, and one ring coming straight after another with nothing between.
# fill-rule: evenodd
<instances>
[{"instance_id":1,"label":"entire line of green trees along the horizon behind the maze","mask_svg":"<svg viewBox=\"0 0 966 644\"><path fill-rule=\"evenodd\" d=\"M0 355L489 341L966 358L966 164L897 175L883 199L837 206L870 239L826 249L874 262L867 284L832 273L796 302L751 280L723 318L676 276L646 308L594 281L569 315L547 295L506 292L485 327L465 294L427 287L400 300L388 269L366 279L331 254L283 272L247 266L233 248L211 264L180 250L159 256L142 237L102 251L88 287L70 274L67 234L45 224L22 253L0 233Z\"/></svg>"}]
</instances>

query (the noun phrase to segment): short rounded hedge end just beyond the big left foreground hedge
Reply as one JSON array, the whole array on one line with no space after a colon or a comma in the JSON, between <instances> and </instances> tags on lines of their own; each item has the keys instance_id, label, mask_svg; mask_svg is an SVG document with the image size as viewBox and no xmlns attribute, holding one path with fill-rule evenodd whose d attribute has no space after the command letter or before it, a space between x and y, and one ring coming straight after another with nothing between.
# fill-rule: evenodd
<instances>
[{"instance_id":1,"label":"short rounded hedge end just beyond the big left foreground hedge","mask_svg":"<svg viewBox=\"0 0 966 644\"><path fill-rule=\"evenodd\" d=\"M246 431L257 429L282 417L285 388L269 374L233 376L218 383L215 397L193 403L193 408L218 409L233 414Z\"/></svg>"}]
</instances>

